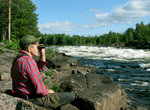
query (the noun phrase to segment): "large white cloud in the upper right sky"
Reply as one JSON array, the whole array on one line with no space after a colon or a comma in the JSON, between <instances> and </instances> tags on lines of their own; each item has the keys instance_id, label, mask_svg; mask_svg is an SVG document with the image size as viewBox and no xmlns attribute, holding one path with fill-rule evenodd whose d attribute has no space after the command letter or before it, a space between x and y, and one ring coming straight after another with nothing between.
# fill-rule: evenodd
<instances>
[{"instance_id":1,"label":"large white cloud in the upper right sky","mask_svg":"<svg viewBox=\"0 0 150 110\"><path fill-rule=\"evenodd\" d=\"M96 14L96 19L109 23L129 23L150 16L150 0L129 0L108 13Z\"/></svg>"}]
</instances>

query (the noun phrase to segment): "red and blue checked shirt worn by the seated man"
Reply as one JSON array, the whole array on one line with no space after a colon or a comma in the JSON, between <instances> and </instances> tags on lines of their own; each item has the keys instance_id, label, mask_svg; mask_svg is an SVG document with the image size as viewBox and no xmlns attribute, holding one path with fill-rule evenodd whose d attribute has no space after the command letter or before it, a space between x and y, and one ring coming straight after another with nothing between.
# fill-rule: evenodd
<instances>
[{"instance_id":1,"label":"red and blue checked shirt worn by the seated man","mask_svg":"<svg viewBox=\"0 0 150 110\"><path fill-rule=\"evenodd\" d=\"M20 97L47 95L48 89L44 85L40 74L47 62L41 60L38 63L35 62L24 50L21 50L18 56L22 54L23 56L14 63L11 72L14 93Z\"/></svg>"}]
</instances>

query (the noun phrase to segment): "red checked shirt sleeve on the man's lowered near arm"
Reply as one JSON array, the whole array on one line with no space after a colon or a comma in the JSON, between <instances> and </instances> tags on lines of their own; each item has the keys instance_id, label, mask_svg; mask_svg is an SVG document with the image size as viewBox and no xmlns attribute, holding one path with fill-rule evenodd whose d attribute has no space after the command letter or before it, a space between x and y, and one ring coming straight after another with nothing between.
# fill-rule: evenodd
<instances>
[{"instance_id":1,"label":"red checked shirt sleeve on the man's lowered near arm","mask_svg":"<svg viewBox=\"0 0 150 110\"><path fill-rule=\"evenodd\" d=\"M37 63L33 59L27 60L26 72L31 82L33 83L36 93L42 94L43 96L47 95L48 89L44 85Z\"/></svg>"}]
</instances>

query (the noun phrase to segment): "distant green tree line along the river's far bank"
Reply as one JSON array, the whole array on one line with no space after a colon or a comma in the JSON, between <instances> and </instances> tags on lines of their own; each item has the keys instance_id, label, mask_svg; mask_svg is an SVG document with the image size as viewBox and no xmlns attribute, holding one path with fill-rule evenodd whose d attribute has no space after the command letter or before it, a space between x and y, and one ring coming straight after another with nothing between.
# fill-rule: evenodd
<instances>
[{"instance_id":1,"label":"distant green tree line along the river's far bank","mask_svg":"<svg viewBox=\"0 0 150 110\"><path fill-rule=\"evenodd\" d=\"M43 34L41 43L45 45L112 45L125 44L130 41L150 41L150 24L136 24L136 28L128 28L124 33L110 31L100 36L69 36L66 34Z\"/></svg>"}]
</instances>

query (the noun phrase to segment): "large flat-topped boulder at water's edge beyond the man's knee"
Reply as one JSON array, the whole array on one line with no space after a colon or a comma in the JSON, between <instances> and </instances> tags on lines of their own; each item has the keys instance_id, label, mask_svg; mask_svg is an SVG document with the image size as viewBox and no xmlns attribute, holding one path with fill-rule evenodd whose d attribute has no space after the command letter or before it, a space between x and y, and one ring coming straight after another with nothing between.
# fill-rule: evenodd
<instances>
[{"instance_id":1,"label":"large flat-topped boulder at water's edge beyond the man's knee","mask_svg":"<svg viewBox=\"0 0 150 110\"><path fill-rule=\"evenodd\" d=\"M127 95L112 78L100 74L73 74L64 80L63 91L77 95L73 105L80 110L121 110L127 107Z\"/></svg>"}]
</instances>

